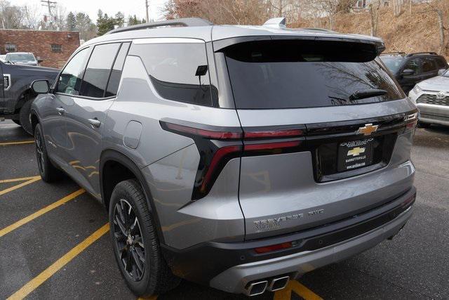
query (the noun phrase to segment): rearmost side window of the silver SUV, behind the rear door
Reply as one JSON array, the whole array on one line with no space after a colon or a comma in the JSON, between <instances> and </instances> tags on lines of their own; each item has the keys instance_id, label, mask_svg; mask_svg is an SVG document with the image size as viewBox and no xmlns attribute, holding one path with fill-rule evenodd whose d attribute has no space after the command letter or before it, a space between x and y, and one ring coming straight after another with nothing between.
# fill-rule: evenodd
<instances>
[{"instance_id":1,"label":"rearmost side window of the silver SUV, behind the rear door","mask_svg":"<svg viewBox=\"0 0 449 300\"><path fill-rule=\"evenodd\" d=\"M140 56L162 98L212 105L206 45L203 42L133 44L130 55Z\"/></svg>"}]
</instances>

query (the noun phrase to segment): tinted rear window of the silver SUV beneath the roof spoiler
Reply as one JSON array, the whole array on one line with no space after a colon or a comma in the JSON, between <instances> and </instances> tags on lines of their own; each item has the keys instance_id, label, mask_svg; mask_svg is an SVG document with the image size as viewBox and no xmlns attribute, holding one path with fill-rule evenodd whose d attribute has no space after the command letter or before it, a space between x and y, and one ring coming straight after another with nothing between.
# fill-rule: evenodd
<instances>
[{"instance_id":1,"label":"tinted rear window of the silver SUV beneath the roof spoiler","mask_svg":"<svg viewBox=\"0 0 449 300\"><path fill-rule=\"evenodd\" d=\"M365 44L328 41L250 41L225 48L236 107L302 108L405 97ZM350 100L357 91L382 96Z\"/></svg>"}]
</instances>

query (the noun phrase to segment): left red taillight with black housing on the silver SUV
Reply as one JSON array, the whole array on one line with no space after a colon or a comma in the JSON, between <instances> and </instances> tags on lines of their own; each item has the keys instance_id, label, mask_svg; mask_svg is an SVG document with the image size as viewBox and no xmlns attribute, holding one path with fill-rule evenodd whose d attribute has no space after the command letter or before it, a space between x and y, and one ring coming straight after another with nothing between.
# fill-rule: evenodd
<instances>
[{"instance_id":1,"label":"left red taillight with black housing on the silver SUV","mask_svg":"<svg viewBox=\"0 0 449 300\"><path fill-rule=\"evenodd\" d=\"M174 124L160 121L166 131L189 136L195 141L200 162L194 183L192 200L206 196L229 160L251 155L292 152L301 144L302 128L244 129L199 128L197 124Z\"/></svg>"}]
</instances>

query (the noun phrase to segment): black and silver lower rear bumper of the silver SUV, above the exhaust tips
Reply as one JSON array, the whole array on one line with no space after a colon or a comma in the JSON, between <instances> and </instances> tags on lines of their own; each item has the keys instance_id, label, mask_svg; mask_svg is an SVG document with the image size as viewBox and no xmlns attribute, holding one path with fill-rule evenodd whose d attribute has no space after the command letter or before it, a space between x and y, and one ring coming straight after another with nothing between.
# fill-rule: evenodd
<instances>
[{"instance_id":1,"label":"black and silver lower rear bumper of the silver SUV, above the exhaust tips","mask_svg":"<svg viewBox=\"0 0 449 300\"><path fill-rule=\"evenodd\" d=\"M412 214L415 188L382 207L290 235L237 243L208 242L182 251L163 245L173 273L226 292L241 293L248 282L310 270L347 259L396 235ZM295 247L257 254L254 249L295 241Z\"/></svg>"}]
</instances>

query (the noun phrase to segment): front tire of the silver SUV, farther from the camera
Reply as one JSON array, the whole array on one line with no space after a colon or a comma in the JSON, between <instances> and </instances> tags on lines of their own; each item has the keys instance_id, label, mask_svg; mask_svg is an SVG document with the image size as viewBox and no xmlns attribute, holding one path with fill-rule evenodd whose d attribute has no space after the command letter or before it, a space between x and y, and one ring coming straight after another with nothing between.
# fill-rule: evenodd
<instances>
[{"instance_id":1,"label":"front tire of the silver SUV, farther from the camera","mask_svg":"<svg viewBox=\"0 0 449 300\"><path fill-rule=\"evenodd\" d=\"M37 167L42 180L48 183L55 181L61 176L62 172L56 169L50 159L48 159L46 143L43 139L40 123L36 124L36 128L34 128L34 142Z\"/></svg>"}]
</instances>

